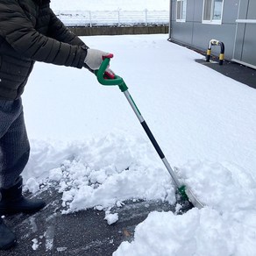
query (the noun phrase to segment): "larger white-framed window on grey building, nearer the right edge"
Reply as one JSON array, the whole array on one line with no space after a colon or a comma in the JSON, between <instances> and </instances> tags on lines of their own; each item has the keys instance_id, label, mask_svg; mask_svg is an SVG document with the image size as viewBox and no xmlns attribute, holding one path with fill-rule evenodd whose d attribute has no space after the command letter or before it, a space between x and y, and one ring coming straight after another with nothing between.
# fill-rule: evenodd
<instances>
[{"instance_id":1,"label":"larger white-framed window on grey building, nearer the right edge","mask_svg":"<svg viewBox=\"0 0 256 256\"><path fill-rule=\"evenodd\" d=\"M224 0L203 1L203 23L221 24Z\"/></svg>"}]
</instances>

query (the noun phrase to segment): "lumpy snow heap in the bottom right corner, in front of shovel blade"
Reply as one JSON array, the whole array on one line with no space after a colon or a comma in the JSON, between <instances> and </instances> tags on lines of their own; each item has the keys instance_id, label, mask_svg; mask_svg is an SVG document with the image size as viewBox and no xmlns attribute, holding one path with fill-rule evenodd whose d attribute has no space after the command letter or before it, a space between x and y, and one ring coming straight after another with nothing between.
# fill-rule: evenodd
<instances>
[{"instance_id":1,"label":"lumpy snow heap in the bottom right corner, in front of shovel blade","mask_svg":"<svg viewBox=\"0 0 256 256\"><path fill-rule=\"evenodd\" d=\"M189 210L181 216L152 212L136 227L134 241L123 242L113 256L254 255L255 212L230 217L208 207Z\"/></svg>"}]
</instances>

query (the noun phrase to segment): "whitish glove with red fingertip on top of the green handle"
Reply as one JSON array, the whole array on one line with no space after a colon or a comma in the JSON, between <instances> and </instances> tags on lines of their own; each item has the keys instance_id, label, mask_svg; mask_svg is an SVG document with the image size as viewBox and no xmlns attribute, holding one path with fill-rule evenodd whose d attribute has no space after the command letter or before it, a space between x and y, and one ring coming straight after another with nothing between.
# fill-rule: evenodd
<instances>
[{"instance_id":1,"label":"whitish glove with red fingertip on top of the green handle","mask_svg":"<svg viewBox=\"0 0 256 256\"><path fill-rule=\"evenodd\" d=\"M99 69L103 60L106 58L113 58L112 53L105 53L96 49L87 49L87 55L85 57L84 63L92 70Z\"/></svg>"}]
</instances>

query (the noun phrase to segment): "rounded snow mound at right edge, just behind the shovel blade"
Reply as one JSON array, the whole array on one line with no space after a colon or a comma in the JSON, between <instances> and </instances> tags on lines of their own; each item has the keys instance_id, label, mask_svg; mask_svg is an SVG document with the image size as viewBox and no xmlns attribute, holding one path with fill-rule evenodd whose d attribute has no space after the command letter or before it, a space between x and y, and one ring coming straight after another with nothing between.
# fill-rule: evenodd
<instances>
[{"instance_id":1,"label":"rounded snow mound at right edge, just behind the shovel blade","mask_svg":"<svg viewBox=\"0 0 256 256\"><path fill-rule=\"evenodd\" d=\"M179 175L204 204L219 212L256 210L256 182L241 167L191 160L180 168Z\"/></svg>"}]
</instances>

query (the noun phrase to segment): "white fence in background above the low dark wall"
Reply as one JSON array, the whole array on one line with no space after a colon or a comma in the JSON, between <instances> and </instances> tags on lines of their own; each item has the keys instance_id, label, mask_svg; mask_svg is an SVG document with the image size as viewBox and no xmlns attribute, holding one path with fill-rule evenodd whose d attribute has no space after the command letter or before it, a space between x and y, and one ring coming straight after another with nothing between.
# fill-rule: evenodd
<instances>
[{"instance_id":1,"label":"white fence in background above the low dark wall","mask_svg":"<svg viewBox=\"0 0 256 256\"><path fill-rule=\"evenodd\" d=\"M55 11L67 26L168 25L169 11Z\"/></svg>"}]
</instances>

